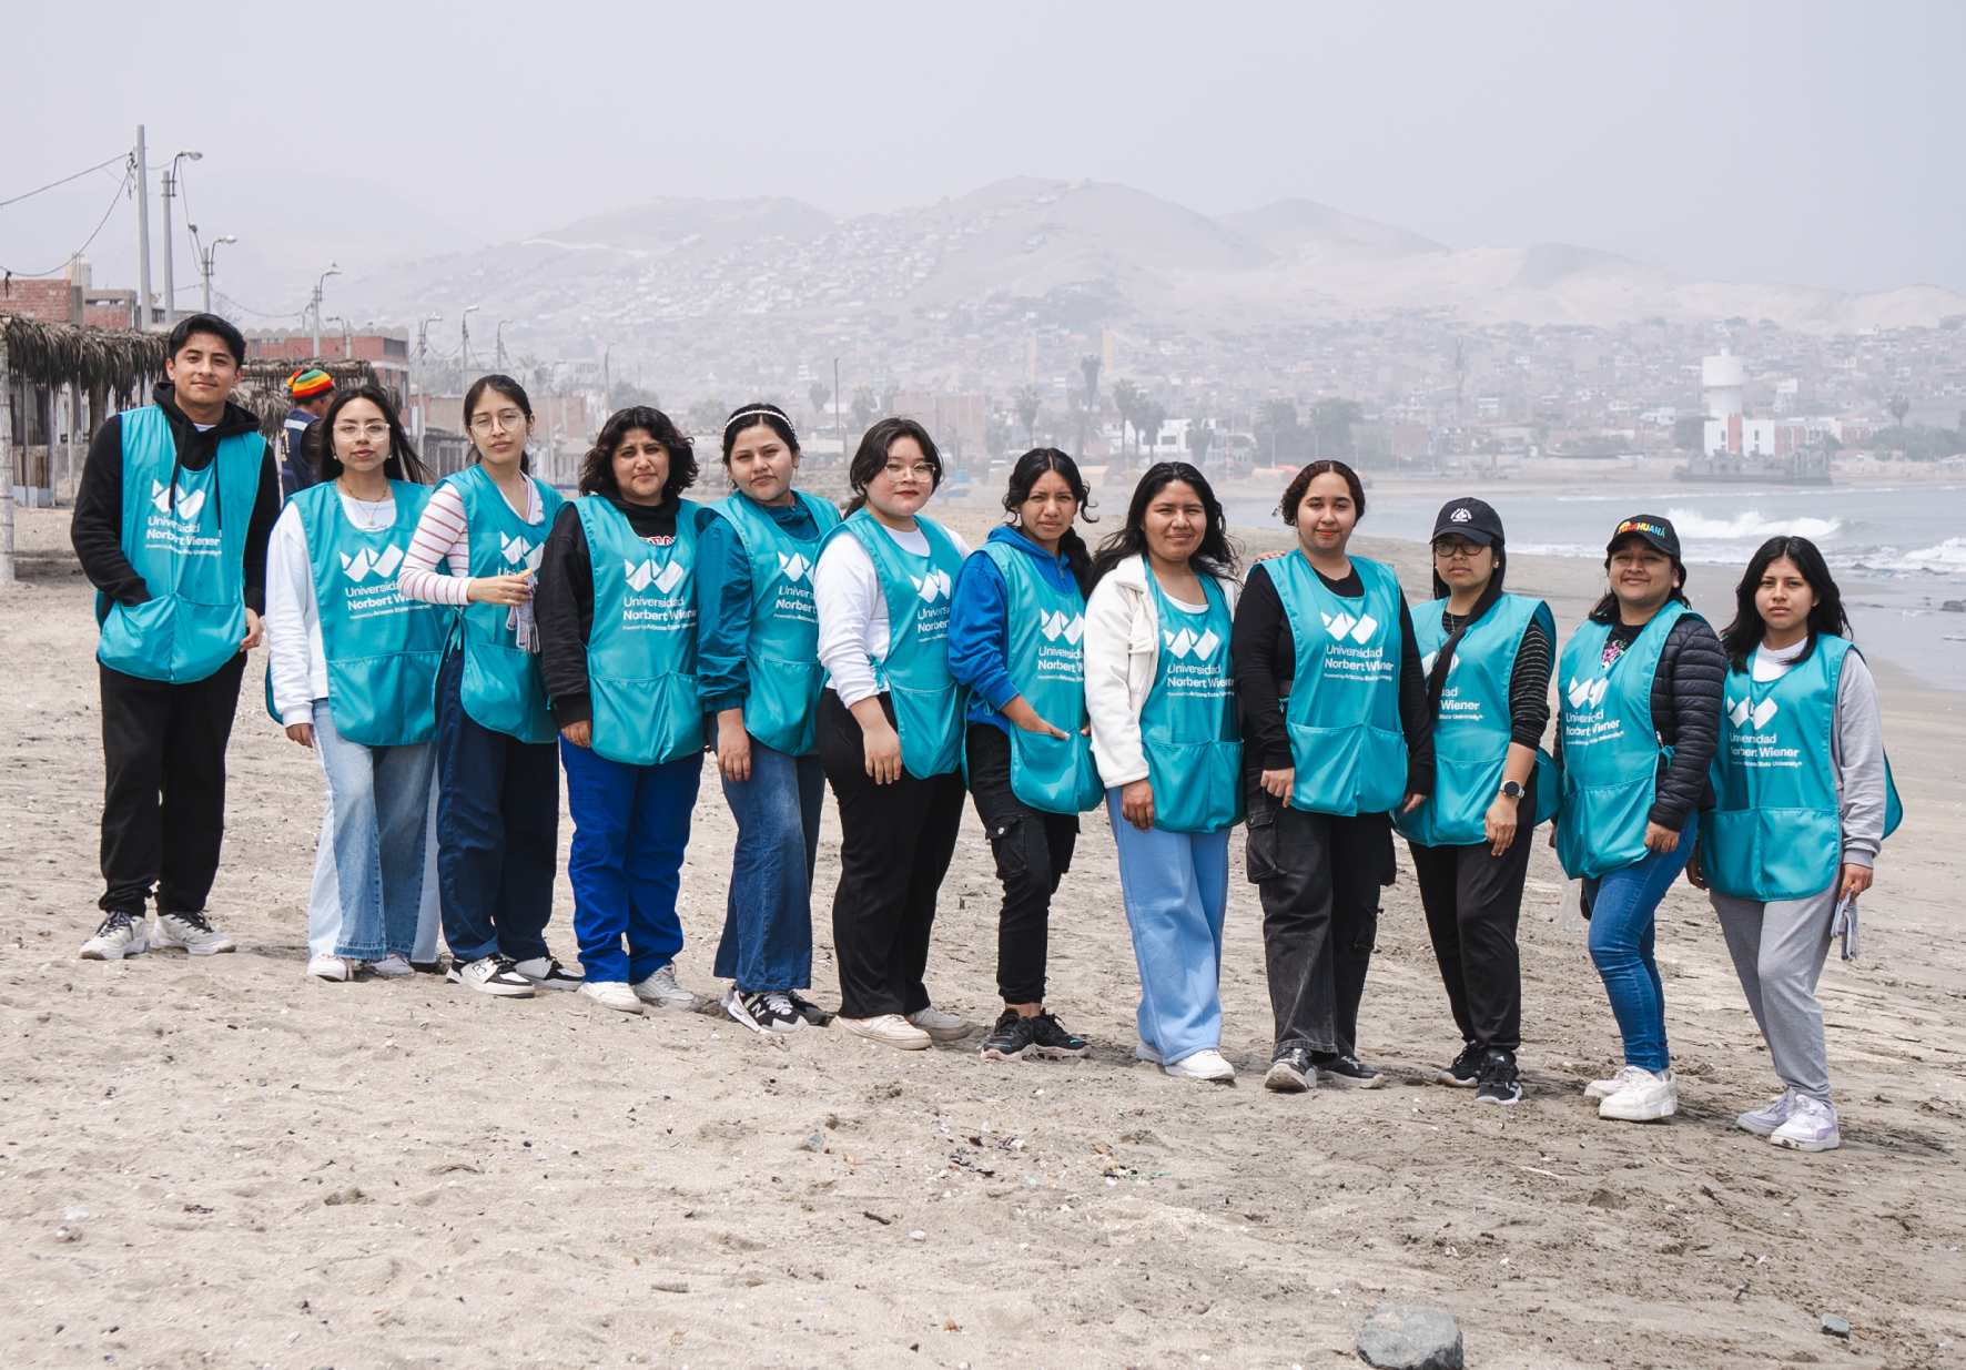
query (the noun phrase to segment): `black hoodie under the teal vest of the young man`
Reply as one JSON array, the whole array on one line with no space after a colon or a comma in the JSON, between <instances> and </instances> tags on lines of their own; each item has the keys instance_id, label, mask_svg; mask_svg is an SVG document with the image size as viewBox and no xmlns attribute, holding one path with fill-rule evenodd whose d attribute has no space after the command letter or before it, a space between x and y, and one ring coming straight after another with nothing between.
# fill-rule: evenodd
<instances>
[{"instance_id":1,"label":"black hoodie under the teal vest of the young man","mask_svg":"<svg viewBox=\"0 0 1966 1370\"><path fill-rule=\"evenodd\" d=\"M258 432L260 421L250 409L226 401L224 417L202 432L185 411L177 407L177 387L157 385L157 407L171 423L171 440L177 442L177 464L187 472L202 472L218 456L218 438L232 438L240 432ZM69 542L75 558L83 564L88 582L122 605L149 599L149 586L122 550L122 415L110 415L96 436L88 440L88 456L83 462L83 480L75 489L75 517L69 521ZM246 607L265 613L265 541L273 535L273 521L279 519L279 468L273 464L273 450L267 448L260 466L260 489L254 495L246 525ZM220 505L220 521L228 511Z\"/></svg>"}]
</instances>

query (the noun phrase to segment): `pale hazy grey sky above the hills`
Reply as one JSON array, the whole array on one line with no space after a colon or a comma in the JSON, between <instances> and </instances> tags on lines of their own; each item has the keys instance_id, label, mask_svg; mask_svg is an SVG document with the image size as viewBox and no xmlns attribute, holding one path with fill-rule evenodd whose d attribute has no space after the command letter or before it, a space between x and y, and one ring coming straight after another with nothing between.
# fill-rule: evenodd
<instances>
[{"instance_id":1,"label":"pale hazy grey sky above the hills","mask_svg":"<svg viewBox=\"0 0 1966 1370\"><path fill-rule=\"evenodd\" d=\"M0 199L144 122L153 163L199 147L193 177L258 177L291 214L407 202L486 240L657 195L859 214L1046 175L1205 212L1305 197L1457 248L1966 291L1960 4L85 0L8 6L6 45ZM61 261L112 189L0 208L0 267ZM98 283L134 283L102 269L128 216L90 250Z\"/></svg>"}]
</instances>

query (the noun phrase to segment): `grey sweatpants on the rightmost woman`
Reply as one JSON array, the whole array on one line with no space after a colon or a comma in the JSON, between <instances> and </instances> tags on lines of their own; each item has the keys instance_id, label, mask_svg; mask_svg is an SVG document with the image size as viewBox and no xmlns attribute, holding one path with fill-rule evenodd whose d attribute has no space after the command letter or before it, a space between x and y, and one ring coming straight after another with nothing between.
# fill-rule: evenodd
<instances>
[{"instance_id":1,"label":"grey sweatpants on the rightmost woman","mask_svg":"<svg viewBox=\"0 0 1966 1370\"><path fill-rule=\"evenodd\" d=\"M1775 1075L1822 1103L1830 1101L1830 1054L1817 979L1830 949L1838 885L1809 898L1767 904L1708 890Z\"/></svg>"}]
</instances>

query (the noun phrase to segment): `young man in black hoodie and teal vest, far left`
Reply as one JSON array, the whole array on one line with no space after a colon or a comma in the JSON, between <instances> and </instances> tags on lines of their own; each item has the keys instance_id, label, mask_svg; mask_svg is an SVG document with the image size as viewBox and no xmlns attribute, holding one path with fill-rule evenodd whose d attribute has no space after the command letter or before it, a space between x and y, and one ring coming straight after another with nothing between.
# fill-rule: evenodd
<instances>
[{"instance_id":1,"label":"young man in black hoodie and teal vest, far left","mask_svg":"<svg viewBox=\"0 0 1966 1370\"><path fill-rule=\"evenodd\" d=\"M83 959L232 951L204 918L226 810L226 741L260 645L279 472L230 403L246 338L214 314L171 330L155 403L88 444L69 537L102 641L102 926ZM155 888L157 926L144 904Z\"/></svg>"}]
</instances>

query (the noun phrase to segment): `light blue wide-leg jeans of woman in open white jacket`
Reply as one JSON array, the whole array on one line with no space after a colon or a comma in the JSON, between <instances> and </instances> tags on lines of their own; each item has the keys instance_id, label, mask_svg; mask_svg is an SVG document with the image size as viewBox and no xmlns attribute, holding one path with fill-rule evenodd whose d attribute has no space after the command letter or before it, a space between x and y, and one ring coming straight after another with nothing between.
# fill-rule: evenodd
<instances>
[{"instance_id":1,"label":"light blue wide-leg jeans of woman in open white jacket","mask_svg":"<svg viewBox=\"0 0 1966 1370\"><path fill-rule=\"evenodd\" d=\"M1229 904L1229 829L1140 831L1107 790L1119 847L1119 886L1140 965L1140 1042L1164 1061L1223 1044L1223 912Z\"/></svg>"}]
</instances>

